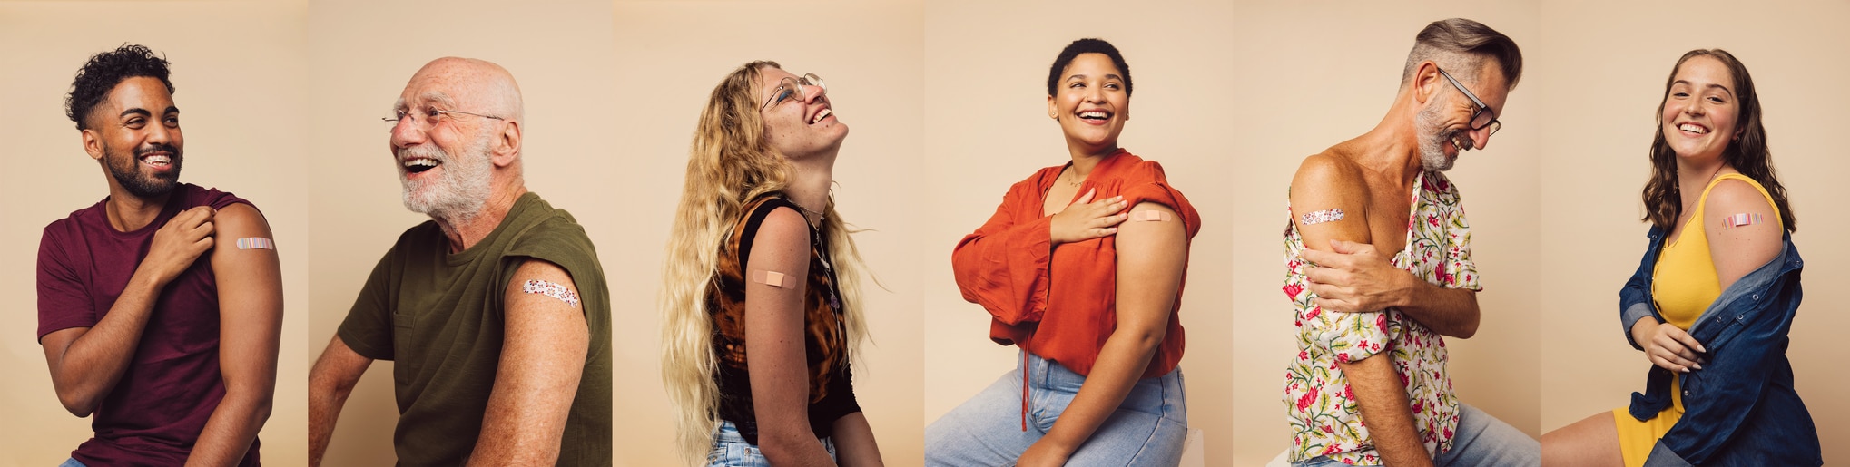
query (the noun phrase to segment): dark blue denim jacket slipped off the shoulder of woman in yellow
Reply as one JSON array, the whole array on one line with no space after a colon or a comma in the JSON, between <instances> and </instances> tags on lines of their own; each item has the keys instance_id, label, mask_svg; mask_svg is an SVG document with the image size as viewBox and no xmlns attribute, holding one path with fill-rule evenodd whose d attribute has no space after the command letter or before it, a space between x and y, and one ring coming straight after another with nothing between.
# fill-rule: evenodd
<instances>
[{"instance_id":1,"label":"dark blue denim jacket slipped off the shoulder of woman in yellow","mask_svg":"<svg viewBox=\"0 0 1850 467\"><path fill-rule=\"evenodd\" d=\"M1663 321L1650 295L1663 242L1663 231L1652 227L1637 273L1619 290L1626 341L1637 319ZM1793 389L1793 365L1785 360L1785 334L1804 295L1798 286L1804 260L1791 233L1783 244L1778 257L1722 290L1689 327L1689 336L1708 349L1708 362L1684 373L1684 417L1658 439L1645 465L1824 463L1819 430ZM1632 347L1643 349L1637 341ZM1652 419L1671 406L1671 377L1669 369L1650 367L1645 393L1632 393L1632 417Z\"/></svg>"}]
</instances>

